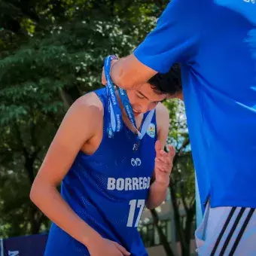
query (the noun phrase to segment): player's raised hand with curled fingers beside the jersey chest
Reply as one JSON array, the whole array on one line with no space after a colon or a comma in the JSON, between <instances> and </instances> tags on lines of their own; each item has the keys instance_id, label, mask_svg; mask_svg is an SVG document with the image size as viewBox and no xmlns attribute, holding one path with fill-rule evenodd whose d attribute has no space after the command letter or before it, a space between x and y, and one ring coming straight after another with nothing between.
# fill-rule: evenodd
<instances>
[{"instance_id":1,"label":"player's raised hand with curled fingers beside the jersey chest","mask_svg":"<svg viewBox=\"0 0 256 256\"><path fill-rule=\"evenodd\" d=\"M168 186L172 172L172 161L175 156L175 148L168 145L169 152L163 151L160 141L155 144L156 159L154 165L155 178L158 184Z\"/></svg>"}]
</instances>

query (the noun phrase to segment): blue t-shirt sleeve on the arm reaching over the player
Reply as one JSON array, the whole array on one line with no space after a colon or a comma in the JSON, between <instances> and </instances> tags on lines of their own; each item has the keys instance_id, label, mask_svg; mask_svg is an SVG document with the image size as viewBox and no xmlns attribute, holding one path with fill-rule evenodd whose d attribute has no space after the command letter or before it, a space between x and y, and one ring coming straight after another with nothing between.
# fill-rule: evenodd
<instances>
[{"instance_id":1,"label":"blue t-shirt sleeve on the arm reaching over the player","mask_svg":"<svg viewBox=\"0 0 256 256\"><path fill-rule=\"evenodd\" d=\"M189 61L200 35L200 0L172 0L157 20L156 28L134 50L145 66L169 72L175 62Z\"/></svg>"}]
</instances>

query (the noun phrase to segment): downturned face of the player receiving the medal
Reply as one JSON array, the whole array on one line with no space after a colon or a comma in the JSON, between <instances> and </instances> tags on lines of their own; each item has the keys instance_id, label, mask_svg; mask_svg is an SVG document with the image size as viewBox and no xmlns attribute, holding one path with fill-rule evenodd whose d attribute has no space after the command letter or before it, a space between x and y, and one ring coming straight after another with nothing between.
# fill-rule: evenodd
<instances>
[{"instance_id":1,"label":"downturned face of the player receiving the medal","mask_svg":"<svg viewBox=\"0 0 256 256\"><path fill-rule=\"evenodd\" d=\"M149 84L143 84L136 90L127 90L130 104L135 116L150 111L158 102L166 99L166 94L157 94Z\"/></svg>"}]
</instances>

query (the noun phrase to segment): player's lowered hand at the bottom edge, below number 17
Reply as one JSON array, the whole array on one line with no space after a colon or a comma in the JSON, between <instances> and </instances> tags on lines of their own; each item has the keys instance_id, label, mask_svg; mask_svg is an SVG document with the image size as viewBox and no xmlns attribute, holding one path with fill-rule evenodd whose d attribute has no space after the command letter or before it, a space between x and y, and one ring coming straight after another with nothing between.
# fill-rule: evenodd
<instances>
[{"instance_id":1,"label":"player's lowered hand at the bottom edge, below number 17","mask_svg":"<svg viewBox=\"0 0 256 256\"><path fill-rule=\"evenodd\" d=\"M126 248L119 245L117 242L100 239L94 241L92 245L88 246L88 250L91 256L129 256L130 252L126 251Z\"/></svg>"}]
</instances>

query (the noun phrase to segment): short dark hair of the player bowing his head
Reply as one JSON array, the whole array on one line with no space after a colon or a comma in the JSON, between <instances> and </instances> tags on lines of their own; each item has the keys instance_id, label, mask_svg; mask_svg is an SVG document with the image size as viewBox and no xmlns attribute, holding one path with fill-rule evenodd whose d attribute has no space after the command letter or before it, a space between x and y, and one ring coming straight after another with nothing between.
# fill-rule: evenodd
<instances>
[{"instance_id":1,"label":"short dark hair of the player bowing his head","mask_svg":"<svg viewBox=\"0 0 256 256\"><path fill-rule=\"evenodd\" d=\"M182 90L181 86L181 67L175 63L166 74L157 73L148 80L148 84L156 91L156 93L168 93L173 95Z\"/></svg>"}]
</instances>

